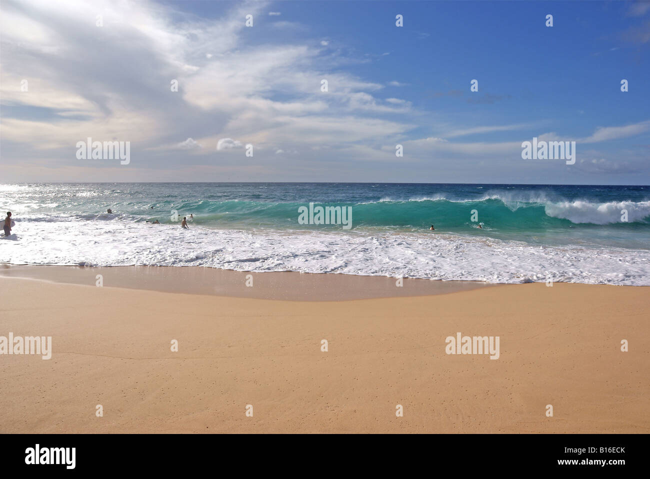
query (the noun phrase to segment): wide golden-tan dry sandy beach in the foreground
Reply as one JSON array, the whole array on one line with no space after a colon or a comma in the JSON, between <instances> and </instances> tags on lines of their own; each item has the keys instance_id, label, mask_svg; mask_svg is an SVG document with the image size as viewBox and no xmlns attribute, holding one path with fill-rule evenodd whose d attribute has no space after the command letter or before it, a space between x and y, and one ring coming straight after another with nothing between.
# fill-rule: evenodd
<instances>
[{"instance_id":1,"label":"wide golden-tan dry sandy beach in the foreground","mask_svg":"<svg viewBox=\"0 0 650 479\"><path fill-rule=\"evenodd\" d=\"M49 360L0 356L0 432L650 432L648 287L408 296L376 278L398 292L355 299L369 279L346 277L340 300L278 300L112 287L115 268L98 269L103 287L94 275L88 285L0 275L0 336L52 338ZM341 277L311 276L310 291ZM498 336L499 358L446 354L458 332Z\"/></svg>"}]
</instances>

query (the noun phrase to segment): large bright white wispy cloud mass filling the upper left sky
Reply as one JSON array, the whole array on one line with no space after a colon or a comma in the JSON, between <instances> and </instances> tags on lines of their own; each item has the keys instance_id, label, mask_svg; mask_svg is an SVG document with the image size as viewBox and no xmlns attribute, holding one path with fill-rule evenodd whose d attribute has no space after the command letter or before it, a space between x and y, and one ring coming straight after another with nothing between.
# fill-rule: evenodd
<instances>
[{"instance_id":1,"label":"large bright white wispy cloud mass filling the upper left sky","mask_svg":"<svg viewBox=\"0 0 650 479\"><path fill-rule=\"evenodd\" d=\"M200 145L217 144L220 151L227 151L242 148L233 138L246 138L255 144L256 153L265 148L271 153L278 149L297 153L277 145L310 148L314 144L376 141L414 126L375 118L376 112L406 112L410 104L372 96L383 86L338 68L350 62L341 53L331 53L327 70L322 71L322 51L306 46L309 43L242 45L242 14L255 14L261 3L239 6L216 21L188 15L176 23L172 17L178 12L161 4L143 0L129 10L113 6L104 16L103 35L98 36L99 27L87 18L95 18L97 8L101 11L109 5L103 0L81 8L64 2L56 7L41 3L34 9L47 11L34 19L22 10L8 9L17 25L23 18L31 28L9 30L10 36L3 31L3 44L29 40L32 49L42 51L57 45L60 51L69 52L70 58L3 48L3 101L66 109L66 114L86 119L36 122L3 118L3 138L31 149L67 148L92 132L100 140L130 140L133 146L157 155L179 148L208 155L211 150ZM6 15L3 18L4 24ZM45 26L36 18L51 21ZM108 25L110 29L106 29ZM84 45L76 36L68 36L72 31L86 38ZM34 60L36 57L45 60ZM107 58L120 58L128 68L116 73ZM86 73L70 75L79 62L88 66ZM43 71L47 71L47 80L40 77ZM23 75L29 78L28 95L19 91ZM323 78L329 82L327 94L320 92ZM172 79L179 83L178 92L170 91ZM278 92L283 99L275 99ZM287 97L286 92L292 95ZM188 139L177 143L183 133ZM36 136L40 141L34 144ZM156 168L160 168L158 164L156 161Z\"/></svg>"}]
</instances>

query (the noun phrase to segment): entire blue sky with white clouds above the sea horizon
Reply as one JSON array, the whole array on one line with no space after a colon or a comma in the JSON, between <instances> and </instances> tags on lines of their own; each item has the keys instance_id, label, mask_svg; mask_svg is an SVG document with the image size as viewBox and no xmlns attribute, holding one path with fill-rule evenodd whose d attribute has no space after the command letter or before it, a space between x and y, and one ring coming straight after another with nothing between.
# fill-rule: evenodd
<instances>
[{"instance_id":1,"label":"entire blue sky with white clouds above the sea horizon","mask_svg":"<svg viewBox=\"0 0 650 479\"><path fill-rule=\"evenodd\" d=\"M650 184L650 1L3 0L0 27L0 183Z\"/></svg>"}]
</instances>

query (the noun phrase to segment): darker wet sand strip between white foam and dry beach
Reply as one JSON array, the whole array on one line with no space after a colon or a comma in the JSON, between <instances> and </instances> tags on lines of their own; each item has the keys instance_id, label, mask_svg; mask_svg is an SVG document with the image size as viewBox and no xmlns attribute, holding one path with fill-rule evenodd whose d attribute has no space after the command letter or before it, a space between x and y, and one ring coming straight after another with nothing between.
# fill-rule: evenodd
<instances>
[{"instance_id":1,"label":"darker wet sand strip between white foam and dry beach","mask_svg":"<svg viewBox=\"0 0 650 479\"><path fill-rule=\"evenodd\" d=\"M1 278L144 291L286 301L344 301L370 298L430 296L502 284L482 281L356 276L301 272L248 272L209 266L59 266L0 264Z\"/></svg>"}]
</instances>

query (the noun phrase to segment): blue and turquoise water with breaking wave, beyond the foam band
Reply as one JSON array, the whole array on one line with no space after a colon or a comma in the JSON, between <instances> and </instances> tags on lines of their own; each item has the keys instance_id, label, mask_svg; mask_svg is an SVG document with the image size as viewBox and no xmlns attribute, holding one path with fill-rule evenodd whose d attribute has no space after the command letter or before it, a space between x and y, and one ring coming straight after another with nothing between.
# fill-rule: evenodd
<instances>
[{"instance_id":1,"label":"blue and turquoise water with breaking wave, beyond the foam band","mask_svg":"<svg viewBox=\"0 0 650 479\"><path fill-rule=\"evenodd\" d=\"M211 228L337 229L298 224L298 208L313 202L352 207L354 229L417 231L434 224L441 232L540 244L650 247L647 186L99 183L32 185L13 201L9 196L2 198L3 208L23 204L23 214L92 215L110 207L172 223L176 210L193 213L195 224ZM623 209L627 222L621 221Z\"/></svg>"}]
</instances>

